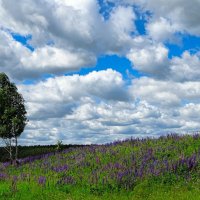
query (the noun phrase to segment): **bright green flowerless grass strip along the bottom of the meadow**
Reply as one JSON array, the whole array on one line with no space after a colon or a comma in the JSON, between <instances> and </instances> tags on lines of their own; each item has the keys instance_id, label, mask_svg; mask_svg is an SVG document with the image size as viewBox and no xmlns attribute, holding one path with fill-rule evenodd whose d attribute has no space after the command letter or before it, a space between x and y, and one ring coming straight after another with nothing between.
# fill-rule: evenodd
<instances>
[{"instance_id":1,"label":"bright green flowerless grass strip along the bottom of the meadow","mask_svg":"<svg viewBox=\"0 0 200 200\"><path fill-rule=\"evenodd\" d=\"M10 186L1 184L0 199L27 200L27 199L105 199L105 200L198 200L200 199L200 185L197 183L178 183L176 185L162 185L150 181L144 181L138 184L132 191L121 191L116 193L105 192L102 194L91 194L84 188L65 188L59 190L56 188L40 188L36 185L19 184L16 192L10 191Z\"/></svg>"}]
</instances>

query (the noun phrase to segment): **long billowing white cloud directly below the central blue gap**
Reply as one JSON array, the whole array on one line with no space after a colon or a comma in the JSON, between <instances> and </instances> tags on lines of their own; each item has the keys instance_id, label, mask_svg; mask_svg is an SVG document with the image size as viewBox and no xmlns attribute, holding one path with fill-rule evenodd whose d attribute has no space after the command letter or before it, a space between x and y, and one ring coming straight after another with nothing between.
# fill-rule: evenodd
<instances>
[{"instance_id":1,"label":"long billowing white cloud directly below the central blue gap","mask_svg":"<svg viewBox=\"0 0 200 200\"><path fill-rule=\"evenodd\" d=\"M88 98L128 101L121 74L111 69L49 78L34 85L20 85L31 117L56 117L71 112L78 102ZM48 116L49 115L49 116Z\"/></svg>"}]
</instances>

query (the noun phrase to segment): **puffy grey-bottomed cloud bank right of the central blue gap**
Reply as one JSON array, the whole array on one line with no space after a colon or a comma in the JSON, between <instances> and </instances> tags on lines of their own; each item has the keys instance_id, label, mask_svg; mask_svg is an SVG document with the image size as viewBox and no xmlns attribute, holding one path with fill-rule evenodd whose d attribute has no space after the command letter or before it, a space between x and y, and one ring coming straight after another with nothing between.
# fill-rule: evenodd
<instances>
[{"instance_id":1,"label":"puffy grey-bottomed cloud bank right of the central blue gap","mask_svg":"<svg viewBox=\"0 0 200 200\"><path fill-rule=\"evenodd\" d=\"M136 39L135 39L136 41ZM161 43L142 42L142 47L133 46L127 54L133 68L155 79L166 79L174 82L199 81L199 52L184 51L182 55L169 59L169 50ZM136 42L135 42L136 44Z\"/></svg>"}]
</instances>

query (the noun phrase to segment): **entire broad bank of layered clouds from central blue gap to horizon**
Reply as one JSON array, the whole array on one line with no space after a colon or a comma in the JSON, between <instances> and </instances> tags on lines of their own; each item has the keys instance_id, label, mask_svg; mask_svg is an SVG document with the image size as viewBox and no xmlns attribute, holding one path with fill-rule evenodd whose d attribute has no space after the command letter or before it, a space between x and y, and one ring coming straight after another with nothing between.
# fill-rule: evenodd
<instances>
[{"instance_id":1,"label":"entire broad bank of layered clouds from central blue gap to horizon","mask_svg":"<svg viewBox=\"0 0 200 200\"><path fill-rule=\"evenodd\" d=\"M109 69L18 87L30 119L22 142L104 143L199 128L199 82L143 77L126 89L121 74Z\"/></svg>"}]
</instances>

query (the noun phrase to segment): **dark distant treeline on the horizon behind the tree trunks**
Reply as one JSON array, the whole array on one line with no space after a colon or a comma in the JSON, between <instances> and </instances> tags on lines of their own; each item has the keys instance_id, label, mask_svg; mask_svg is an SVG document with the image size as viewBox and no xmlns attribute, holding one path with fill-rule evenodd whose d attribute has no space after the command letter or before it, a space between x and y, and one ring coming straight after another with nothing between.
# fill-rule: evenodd
<instances>
[{"instance_id":1,"label":"dark distant treeline on the horizon behind the tree trunks","mask_svg":"<svg viewBox=\"0 0 200 200\"><path fill-rule=\"evenodd\" d=\"M62 145L62 149L67 149L70 147L83 147L85 145ZM36 155L41 155L41 154L46 154L50 152L55 152L56 151L57 145L37 145L37 146L19 146L19 158L25 158L29 156L36 156ZM0 162L6 162L9 161L9 155L7 151L3 148L0 147Z\"/></svg>"}]
</instances>

